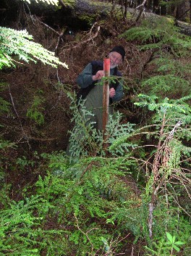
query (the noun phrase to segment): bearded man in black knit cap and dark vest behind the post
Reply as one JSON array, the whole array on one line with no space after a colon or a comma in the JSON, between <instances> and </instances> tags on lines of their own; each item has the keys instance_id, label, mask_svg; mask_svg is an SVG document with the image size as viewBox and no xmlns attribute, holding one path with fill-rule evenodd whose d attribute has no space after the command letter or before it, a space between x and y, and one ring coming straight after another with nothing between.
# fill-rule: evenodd
<instances>
[{"instance_id":1,"label":"bearded man in black knit cap and dark vest behind the post","mask_svg":"<svg viewBox=\"0 0 191 256\"><path fill-rule=\"evenodd\" d=\"M117 66L124 61L125 51L123 46L114 46L109 51L110 59L110 75L122 77ZM77 94L77 99L85 99L84 106L93 112L93 116L89 117L90 122L95 123L97 130L103 130L103 86L99 84L104 76L103 61L90 62L82 73L77 77L77 85L80 86L80 91ZM109 115L113 113L114 102L119 102L123 96L122 79L117 79L115 83L109 83Z\"/></svg>"}]
</instances>

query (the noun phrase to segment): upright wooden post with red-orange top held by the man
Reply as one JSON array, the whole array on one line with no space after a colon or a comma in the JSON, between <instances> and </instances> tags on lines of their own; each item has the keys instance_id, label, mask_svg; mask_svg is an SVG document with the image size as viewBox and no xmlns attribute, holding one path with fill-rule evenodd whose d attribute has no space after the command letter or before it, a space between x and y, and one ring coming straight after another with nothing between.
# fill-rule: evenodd
<instances>
[{"instance_id":1,"label":"upright wooden post with red-orange top held by the man","mask_svg":"<svg viewBox=\"0 0 191 256\"><path fill-rule=\"evenodd\" d=\"M110 76L110 59L103 59L103 71L105 78ZM106 139L106 125L109 120L109 79L103 83L103 139Z\"/></svg>"}]
</instances>

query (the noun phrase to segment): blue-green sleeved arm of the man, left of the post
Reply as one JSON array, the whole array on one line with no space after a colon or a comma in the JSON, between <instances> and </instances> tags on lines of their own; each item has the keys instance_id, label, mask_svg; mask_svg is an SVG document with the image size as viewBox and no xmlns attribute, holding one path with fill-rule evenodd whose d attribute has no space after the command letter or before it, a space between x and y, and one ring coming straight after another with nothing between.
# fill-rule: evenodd
<instances>
[{"instance_id":1,"label":"blue-green sleeved arm of the man, left of the post","mask_svg":"<svg viewBox=\"0 0 191 256\"><path fill-rule=\"evenodd\" d=\"M81 88L86 88L93 83L93 75L92 75L92 65L89 63L82 73L77 77L77 85Z\"/></svg>"}]
</instances>

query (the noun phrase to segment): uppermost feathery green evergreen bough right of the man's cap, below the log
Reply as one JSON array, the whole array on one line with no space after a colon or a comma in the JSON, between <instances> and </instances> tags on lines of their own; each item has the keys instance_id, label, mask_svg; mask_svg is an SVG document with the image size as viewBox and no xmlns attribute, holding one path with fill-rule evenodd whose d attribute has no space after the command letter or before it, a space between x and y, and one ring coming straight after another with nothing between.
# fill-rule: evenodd
<instances>
[{"instance_id":1,"label":"uppermost feathery green evergreen bough right of the man's cap, below the log","mask_svg":"<svg viewBox=\"0 0 191 256\"><path fill-rule=\"evenodd\" d=\"M142 24L126 30L120 37L128 41L136 40L141 50L165 49L180 56L189 54L191 47L190 36L185 36L175 27L173 21L166 17L150 17Z\"/></svg>"}]
</instances>

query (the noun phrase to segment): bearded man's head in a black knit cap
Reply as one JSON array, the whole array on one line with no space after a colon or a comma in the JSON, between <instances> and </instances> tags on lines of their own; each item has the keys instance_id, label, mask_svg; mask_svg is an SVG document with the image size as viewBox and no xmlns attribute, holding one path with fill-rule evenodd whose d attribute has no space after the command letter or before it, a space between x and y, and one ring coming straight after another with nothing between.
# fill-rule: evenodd
<instances>
[{"instance_id":1,"label":"bearded man's head in a black knit cap","mask_svg":"<svg viewBox=\"0 0 191 256\"><path fill-rule=\"evenodd\" d=\"M124 61L124 47L123 46L114 46L111 51L109 51L110 67L114 68L121 64Z\"/></svg>"}]
</instances>

